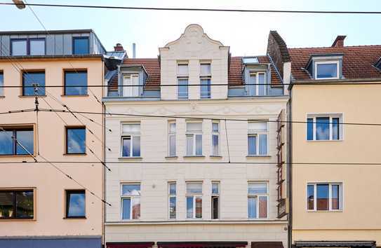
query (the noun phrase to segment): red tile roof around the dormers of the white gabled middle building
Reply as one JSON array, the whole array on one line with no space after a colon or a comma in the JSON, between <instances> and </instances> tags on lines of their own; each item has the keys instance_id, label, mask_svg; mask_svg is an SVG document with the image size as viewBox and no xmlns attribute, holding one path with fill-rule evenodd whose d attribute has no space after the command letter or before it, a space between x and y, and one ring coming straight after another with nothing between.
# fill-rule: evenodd
<instances>
[{"instance_id":1,"label":"red tile roof around the dormers of the white gabled middle building","mask_svg":"<svg viewBox=\"0 0 381 248\"><path fill-rule=\"evenodd\" d=\"M258 56L260 63L270 63L269 57ZM145 87L149 89L159 89L160 87L160 64L157 58L149 59L125 59L123 64L142 66L147 71L147 81ZM228 82L229 86L243 85L245 81L242 76L243 62L242 57L231 57L229 64ZM281 85L281 78L276 73L274 65L272 64L272 84ZM118 90L118 75L114 75L109 83L109 90Z\"/></svg>"}]
</instances>

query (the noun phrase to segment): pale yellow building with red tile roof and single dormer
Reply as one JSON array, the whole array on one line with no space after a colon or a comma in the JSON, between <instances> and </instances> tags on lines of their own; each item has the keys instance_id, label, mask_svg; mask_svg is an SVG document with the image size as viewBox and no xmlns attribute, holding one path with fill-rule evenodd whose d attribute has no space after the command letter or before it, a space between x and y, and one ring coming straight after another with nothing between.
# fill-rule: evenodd
<instances>
[{"instance_id":1,"label":"pale yellow building with red tile roof and single dormer","mask_svg":"<svg viewBox=\"0 0 381 248\"><path fill-rule=\"evenodd\" d=\"M356 125L381 123L381 46L344 39L284 50L290 120L305 122L290 131L295 247L381 246L381 167L372 165L381 161L381 128Z\"/></svg>"}]
</instances>

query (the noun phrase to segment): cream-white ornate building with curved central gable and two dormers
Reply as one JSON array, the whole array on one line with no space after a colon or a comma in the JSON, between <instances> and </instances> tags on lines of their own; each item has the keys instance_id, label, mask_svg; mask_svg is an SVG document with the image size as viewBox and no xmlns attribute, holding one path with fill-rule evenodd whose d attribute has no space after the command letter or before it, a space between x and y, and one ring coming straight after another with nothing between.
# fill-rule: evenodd
<instances>
[{"instance_id":1,"label":"cream-white ornate building with curved central gable and two dormers","mask_svg":"<svg viewBox=\"0 0 381 248\"><path fill-rule=\"evenodd\" d=\"M288 246L283 66L199 25L123 60L103 98L107 248Z\"/></svg>"}]
</instances>

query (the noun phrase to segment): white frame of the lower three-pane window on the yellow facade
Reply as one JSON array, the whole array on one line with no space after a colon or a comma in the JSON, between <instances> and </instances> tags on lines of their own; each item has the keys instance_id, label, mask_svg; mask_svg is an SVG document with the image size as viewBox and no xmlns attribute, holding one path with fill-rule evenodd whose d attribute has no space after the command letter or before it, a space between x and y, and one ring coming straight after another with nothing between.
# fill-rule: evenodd
<instances>
[{"instance_id":1,"label":"white frame of the lower three-pane window on the yellow facade","mask_svg":"<svg viewBox=\"0 0 381 248\"><path fill-rule=\"evenodd\" d=\"M316 191L316 185L318 184L328 184L328 210L318 210L317 209L317 191ZM313 185L314 186L314 209L308 209L308 186ZM339 186L339 209L332 209L332 186L338 185ZM321 182L315 182L315 183L307 183L306 186L306 209L307 212L342 212L343 206L344 206L344 186L342 182L330 182L330 181L321 181Z\"/></svg>"}]
</instances>

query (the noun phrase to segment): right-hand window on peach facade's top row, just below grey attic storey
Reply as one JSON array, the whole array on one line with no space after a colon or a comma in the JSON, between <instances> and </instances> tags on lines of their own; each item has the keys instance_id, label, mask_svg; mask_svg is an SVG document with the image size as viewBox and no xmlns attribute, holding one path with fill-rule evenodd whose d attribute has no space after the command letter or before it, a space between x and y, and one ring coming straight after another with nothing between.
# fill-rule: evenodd
<instances>
[{"instance_id":1,"label":"right-hand window on peach facade's top row, just below grey attic storey","mask_svg":"<svg viewBox=\"0 0 381 248\"><path fill-rule=\"evenodd\" d=\"M87 95L87 71L65 71L64 95Z\"/></svg>"}]
</instances>

